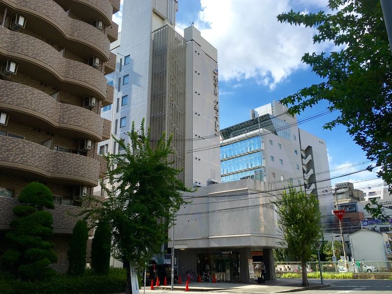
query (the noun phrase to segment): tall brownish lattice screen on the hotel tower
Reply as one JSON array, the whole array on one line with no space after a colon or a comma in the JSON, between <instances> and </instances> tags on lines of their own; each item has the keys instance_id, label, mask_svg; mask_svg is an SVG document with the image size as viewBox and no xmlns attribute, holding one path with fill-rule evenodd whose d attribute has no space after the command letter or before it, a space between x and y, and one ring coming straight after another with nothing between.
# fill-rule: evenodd
<instances>
[{"instance_id":1,"label":"tall brownish lattice screen on the hotel tower","mask_svg":"<svg viewBox=\"0 0 392 294\"><path fill-rule=\"evenodd\" d=\"M183 171L185 182L185 100L186 42L165 25L152 33L151 136L157 140L163 132L173 134L170 156L173 166Z\"/></svg>"}]
</instances>

